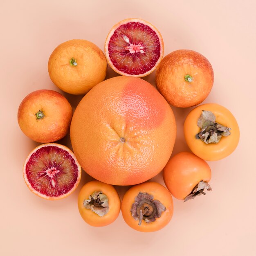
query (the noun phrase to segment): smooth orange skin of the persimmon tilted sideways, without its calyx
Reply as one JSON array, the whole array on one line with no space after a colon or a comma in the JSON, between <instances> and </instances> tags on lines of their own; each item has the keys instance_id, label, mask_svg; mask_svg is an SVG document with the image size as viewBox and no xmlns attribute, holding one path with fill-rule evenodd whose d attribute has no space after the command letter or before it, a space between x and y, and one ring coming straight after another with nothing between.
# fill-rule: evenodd
<instances>
[{"instance_id":1,"label":"smooth orange skin of the persimmon tilted sideways, without its calyx","mask_svg":"<svg viewBox=\"0 0 256 256\"><path fill-rule=\"evenodd\" d=\"M211 180L211 168L203 159L189 152L180 152L172 157L163 172L164 183L171 194L184 200L202 180Z\"/></svg>"}]
</instances>

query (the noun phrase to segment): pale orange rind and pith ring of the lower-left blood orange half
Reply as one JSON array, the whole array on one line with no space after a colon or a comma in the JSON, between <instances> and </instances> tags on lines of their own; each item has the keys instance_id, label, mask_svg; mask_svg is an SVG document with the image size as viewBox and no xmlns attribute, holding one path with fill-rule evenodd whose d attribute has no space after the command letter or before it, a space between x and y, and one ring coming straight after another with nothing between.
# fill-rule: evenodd
<instances>
[{"instance_id":1,"label":"pale orange rind and pith ring of the lower-left blood orange half","mask_svg":"<svg viewBox=\"0 0 256 256\"><path fill-rule=\"evenodd\" d=\"M74 161L75 161L75 163L76 163L76 165L77 165L77 167L78 167L77 180L76 180L76 183L74 184L73 188L72 188L70 191L68 191L67 193L65 193L65 194L63 194L63 195L60 195L60 196L47 196L47 195L44 195L44 194L42 194L42 193L36 191L36 190L31 186L31 184L29 183L29 180L28 180L28 178L27 178L27 174L26 174L26 165L27 165L27 162L29 161L31 155L34 154L34 153L36 152L36 150L38 150L38 149L40 149L40 148L43 148L43 147L47 147L47 146L56 146L56 147L58 147L58 148L61 148L61 149L63 149L63 150L66 150L66 151L73 157L73 159L74 159ZM47 170L47 171L48 171L48 170ZM82 173L82 171L81 171L81 166L80 166L79 162L77 161L77 159L76 159L74 153L70 150L70 148L67 148L66 146L63 146L63 145L57 144L57 143L46 143L46 144L42 144L42 145L36 147L36 148L35 148L34 150L32 150L31 153L28 155L28 157L27 157L27 159L26 159L26 161L25 161L25 163L24 163L24 165L23 165L23 178L24 178L24 180L25 180L25 182L26 182L28 188L30 189L30 191L32 191L34 194L38 195L39 197L44 198L44 199L48 199L48 200L59 200L59 199L65 198L65 197L67 197L68 195L70 195L71 193L73 193L73 191L77 188L77 186L78 186L78 184L79 184L79 182L80 182L80 180L81 180L81 173ZM54 183L54 182L55 182L55 181L53 181L53 183ZM53 185L53 184L52 184L52 185ZM54 184L54 186L55 186L55 184Z\"/></svg>"}]
</instances>

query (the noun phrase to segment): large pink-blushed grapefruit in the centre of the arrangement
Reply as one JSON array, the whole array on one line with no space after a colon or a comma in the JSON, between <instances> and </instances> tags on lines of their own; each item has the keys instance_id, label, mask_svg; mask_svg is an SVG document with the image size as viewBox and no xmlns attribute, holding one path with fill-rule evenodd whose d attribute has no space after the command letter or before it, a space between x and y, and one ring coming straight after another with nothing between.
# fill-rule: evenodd
<instances>
[{"instance_id":1,"label":"large pink-blushed grapefruit in the centre of the arrangement","mask_svg":"<svg viewBox=\"0 0 256 256\"><path fill-rule=\"evenodd\" d=\"M83 97L70 137L82 168L114 185L132 185L157 175L171 156L176 137L173 111L150 83L117 76Z\"/></svg>"}]
</instances>

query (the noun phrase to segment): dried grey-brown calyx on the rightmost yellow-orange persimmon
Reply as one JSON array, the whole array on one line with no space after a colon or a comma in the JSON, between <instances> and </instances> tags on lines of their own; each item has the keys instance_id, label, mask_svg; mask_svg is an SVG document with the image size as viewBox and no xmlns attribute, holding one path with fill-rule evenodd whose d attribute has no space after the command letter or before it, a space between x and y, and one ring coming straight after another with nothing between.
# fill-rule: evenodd
<instances>
[{"instance_id":1,"label":"dried grey-brown calyx on the rightmost yellow-orange persimmon","mask_svg":"<svg viewBox=\"0 0 256 256\"><path fill-rule=\"evenodd\" d=\"M197 125L201 130L196 137L206 144L217 144L222 136L227 137L231 134L231 128L217 123L216 117L211 111L202 110Z\"/></svg>"}]
</instances>

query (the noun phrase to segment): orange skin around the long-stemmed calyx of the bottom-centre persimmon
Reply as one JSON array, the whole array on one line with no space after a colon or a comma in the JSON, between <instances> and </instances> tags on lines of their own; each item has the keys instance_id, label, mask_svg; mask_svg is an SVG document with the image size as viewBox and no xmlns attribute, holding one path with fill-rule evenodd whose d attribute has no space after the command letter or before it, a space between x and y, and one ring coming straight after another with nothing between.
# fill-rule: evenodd
<instances>
[{"instance_id":1,"label":"orange skin around the long-stemmed calyx of the bottom-centre persimmon","mask_svg":"<svg viewBox=\"0 0 256 256\"><path fill-rule=\"evenodd\" d=\"M130 212L132 204L135 202L135 198L139 192L153 195L153 200L159 200L166 208L166 211L162 212L162 215L159 218L156 218L154 222L146 223L142 220L141 226L138 225L139 220L135 220ZM125 193L122 200L121 211L124 221L131 228L141 232L153 232L162 229L170 222L173 216L173 198L170 192L161 184L157 182L144 182L132 186Z\"/></svg>"}]
</instances>

